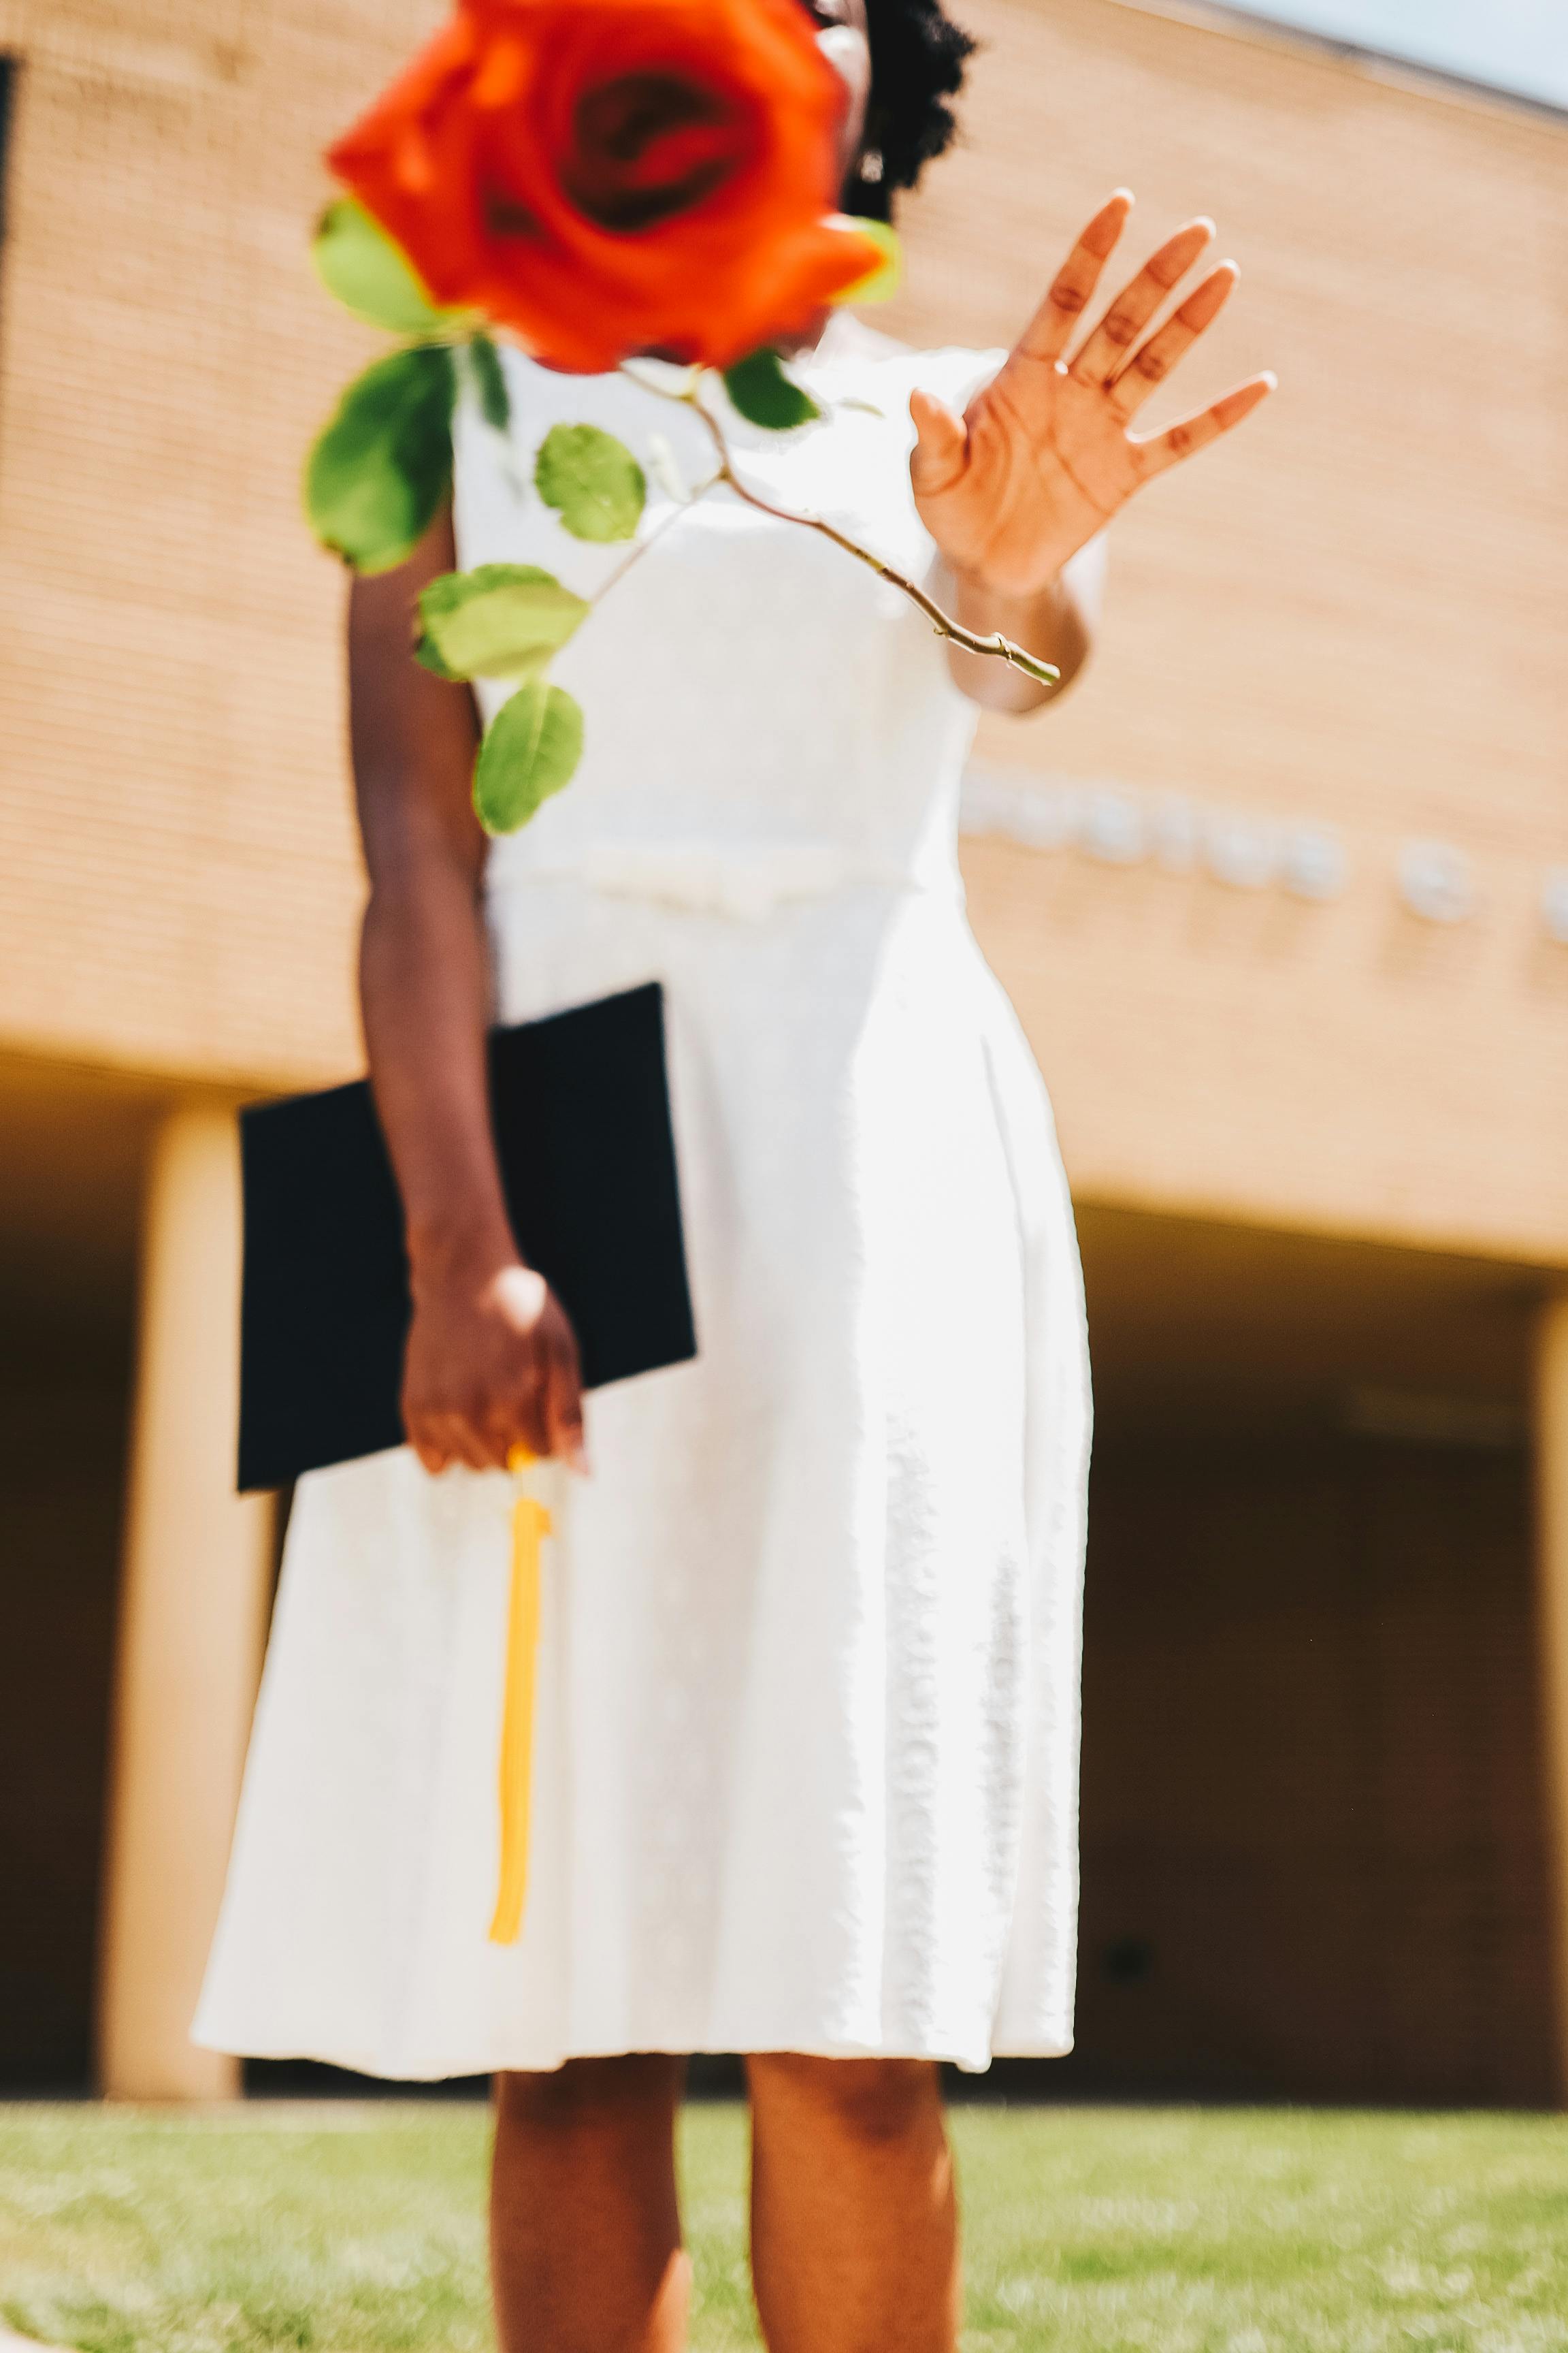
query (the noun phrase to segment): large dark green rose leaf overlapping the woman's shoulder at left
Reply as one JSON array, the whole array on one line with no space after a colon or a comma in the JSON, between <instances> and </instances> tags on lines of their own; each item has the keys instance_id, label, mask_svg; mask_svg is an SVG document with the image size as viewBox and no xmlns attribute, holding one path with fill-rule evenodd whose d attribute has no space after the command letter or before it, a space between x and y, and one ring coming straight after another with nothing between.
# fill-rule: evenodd
<instances>
[{"instance_id":1,"label":"large dark green rose leaf overlapping the woman's shoulder at left","mask_svg":"<svg viewBox=\"0 0 1568 2353\"><path fill-rule=\"evenodd\" d=\"M451 487L456 369L440 346L395 351L343 393L306 461L306 515L355 572L390 572Z\"/></svg>"}]
</instances>

